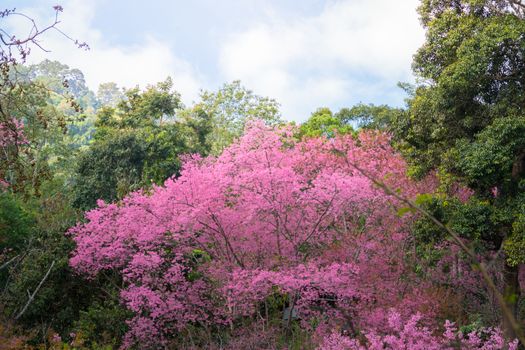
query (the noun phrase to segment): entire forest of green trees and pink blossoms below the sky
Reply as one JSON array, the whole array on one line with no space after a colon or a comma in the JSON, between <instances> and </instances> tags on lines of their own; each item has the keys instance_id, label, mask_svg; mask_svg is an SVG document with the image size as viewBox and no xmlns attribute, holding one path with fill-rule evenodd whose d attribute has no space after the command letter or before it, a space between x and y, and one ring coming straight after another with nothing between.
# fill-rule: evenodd
<instances>
[{"instance_id":1,"label":"entire forest of green trees and pink blossoms below the sky","mask_svg":"<svg viewBox=\"0 0 525 350\"><path fill-rule=\"evenodd\" d=\"M1 350L524 348L521 0L421 0L405 105L303 123L29 63L50 10L0 11Z\"/></svg>"}]
</instances>

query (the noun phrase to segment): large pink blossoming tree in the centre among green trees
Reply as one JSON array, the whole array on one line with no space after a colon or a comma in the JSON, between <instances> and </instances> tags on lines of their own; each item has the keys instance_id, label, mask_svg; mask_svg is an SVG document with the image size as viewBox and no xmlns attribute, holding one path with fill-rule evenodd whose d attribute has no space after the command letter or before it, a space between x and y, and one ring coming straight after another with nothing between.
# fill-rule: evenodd
<instances>
[{"instance_id":1,"label":"large pink blossoming tree in the centre among green trees","mask_svg":"<svg viewBox=\"0 0 525 350\"><path fill-rule=\"evenodd\" d=\"M383 133L298 141L291 127L254 123L220 156L186 157L164 186L99 202L69 231L70 264L88 277L122 275L136 315L128 347L166 345L188 325L255 320L272 293L321 338L384 325L390 308L433 317L440 300L406 259L412 219L354 165L411 198L436 187L405 176Z\"/></svg>"}]
</instances>

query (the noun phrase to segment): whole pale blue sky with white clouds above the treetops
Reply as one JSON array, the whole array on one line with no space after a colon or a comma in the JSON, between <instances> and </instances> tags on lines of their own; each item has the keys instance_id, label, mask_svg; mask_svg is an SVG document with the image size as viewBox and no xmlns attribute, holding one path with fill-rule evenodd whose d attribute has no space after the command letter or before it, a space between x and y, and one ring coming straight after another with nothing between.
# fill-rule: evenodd
<instances>
[{"instance_id":1,"label":"whole pale blue sky with white clouds above the treetops","mask_svg":"<svg viewBox=\"0 0 525 350\"><path fill-rule=\"evenodd\" d=\"M396 84L413 81L412 55L424 39L417 0L4 0L2 7L48 23L57 3L64 7L60 28L91 50L50 33L42 42L52 52L35 50L33 61L79 68L94 90L106 81L145 86L169 75L186 104L200 89L240 79L296 121L321 106L402 105Z\"/></svg>"}]
</instances>

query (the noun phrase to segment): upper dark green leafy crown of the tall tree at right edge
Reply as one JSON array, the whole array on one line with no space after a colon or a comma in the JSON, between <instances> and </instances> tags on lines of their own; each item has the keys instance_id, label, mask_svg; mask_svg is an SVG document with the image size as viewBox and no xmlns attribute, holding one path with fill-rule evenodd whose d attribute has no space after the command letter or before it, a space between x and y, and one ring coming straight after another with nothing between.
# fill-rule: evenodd
<instances>
[{"instance_id":1,"label":"upper dark green leafy crown of the tall tree at right edge","mask_svg":"<svg viewBox=\"0 0 525 350\"><path fill-rule=\"evenodd\" d=\"M524 22L498 8L426 0L419 9L427 41L413 67L428 83L417 87L400 135L418 171L442 164L456 142L474 141L500 118L521 115Z\"/></svg>"}]
</instances>

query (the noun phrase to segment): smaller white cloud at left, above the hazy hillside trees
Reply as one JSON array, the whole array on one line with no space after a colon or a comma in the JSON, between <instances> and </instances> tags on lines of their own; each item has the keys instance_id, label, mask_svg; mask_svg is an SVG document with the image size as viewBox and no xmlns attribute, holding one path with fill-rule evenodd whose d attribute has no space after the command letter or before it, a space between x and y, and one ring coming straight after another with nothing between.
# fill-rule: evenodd
<instances>
[{"instance_id":1,"label":"smaller white cloud at left, above the hazy hillside trees","mask_svg":"<svg viewBox=\"0 0 525 350\"><path fill-rule=\"evenodd\" d=\"M42 37L42 45L51 52L46 53L33 48L30 62L45 58L58 60L72 68L79 68L85 75L91 89L97 90L103 82L114 81L120 86L133 87L139 84L156 83L171 76L175 88L182 94L186 103L198 96L203 78L188 62L178 58L167 43L153 37L142 38L140 44L115 45L110 43L102 32L92 27L96 15L96 1L69 0L63 4L59 28L72 38L85 41L90 50L84 51L57 32L48 32ZM52 22L51 8L23 9L38 20L38 23ZM133 20L133 19L130 19ZM26 32L27 22L18 19L11 25L16 32Z\"/></svg>"}]
</instances>

